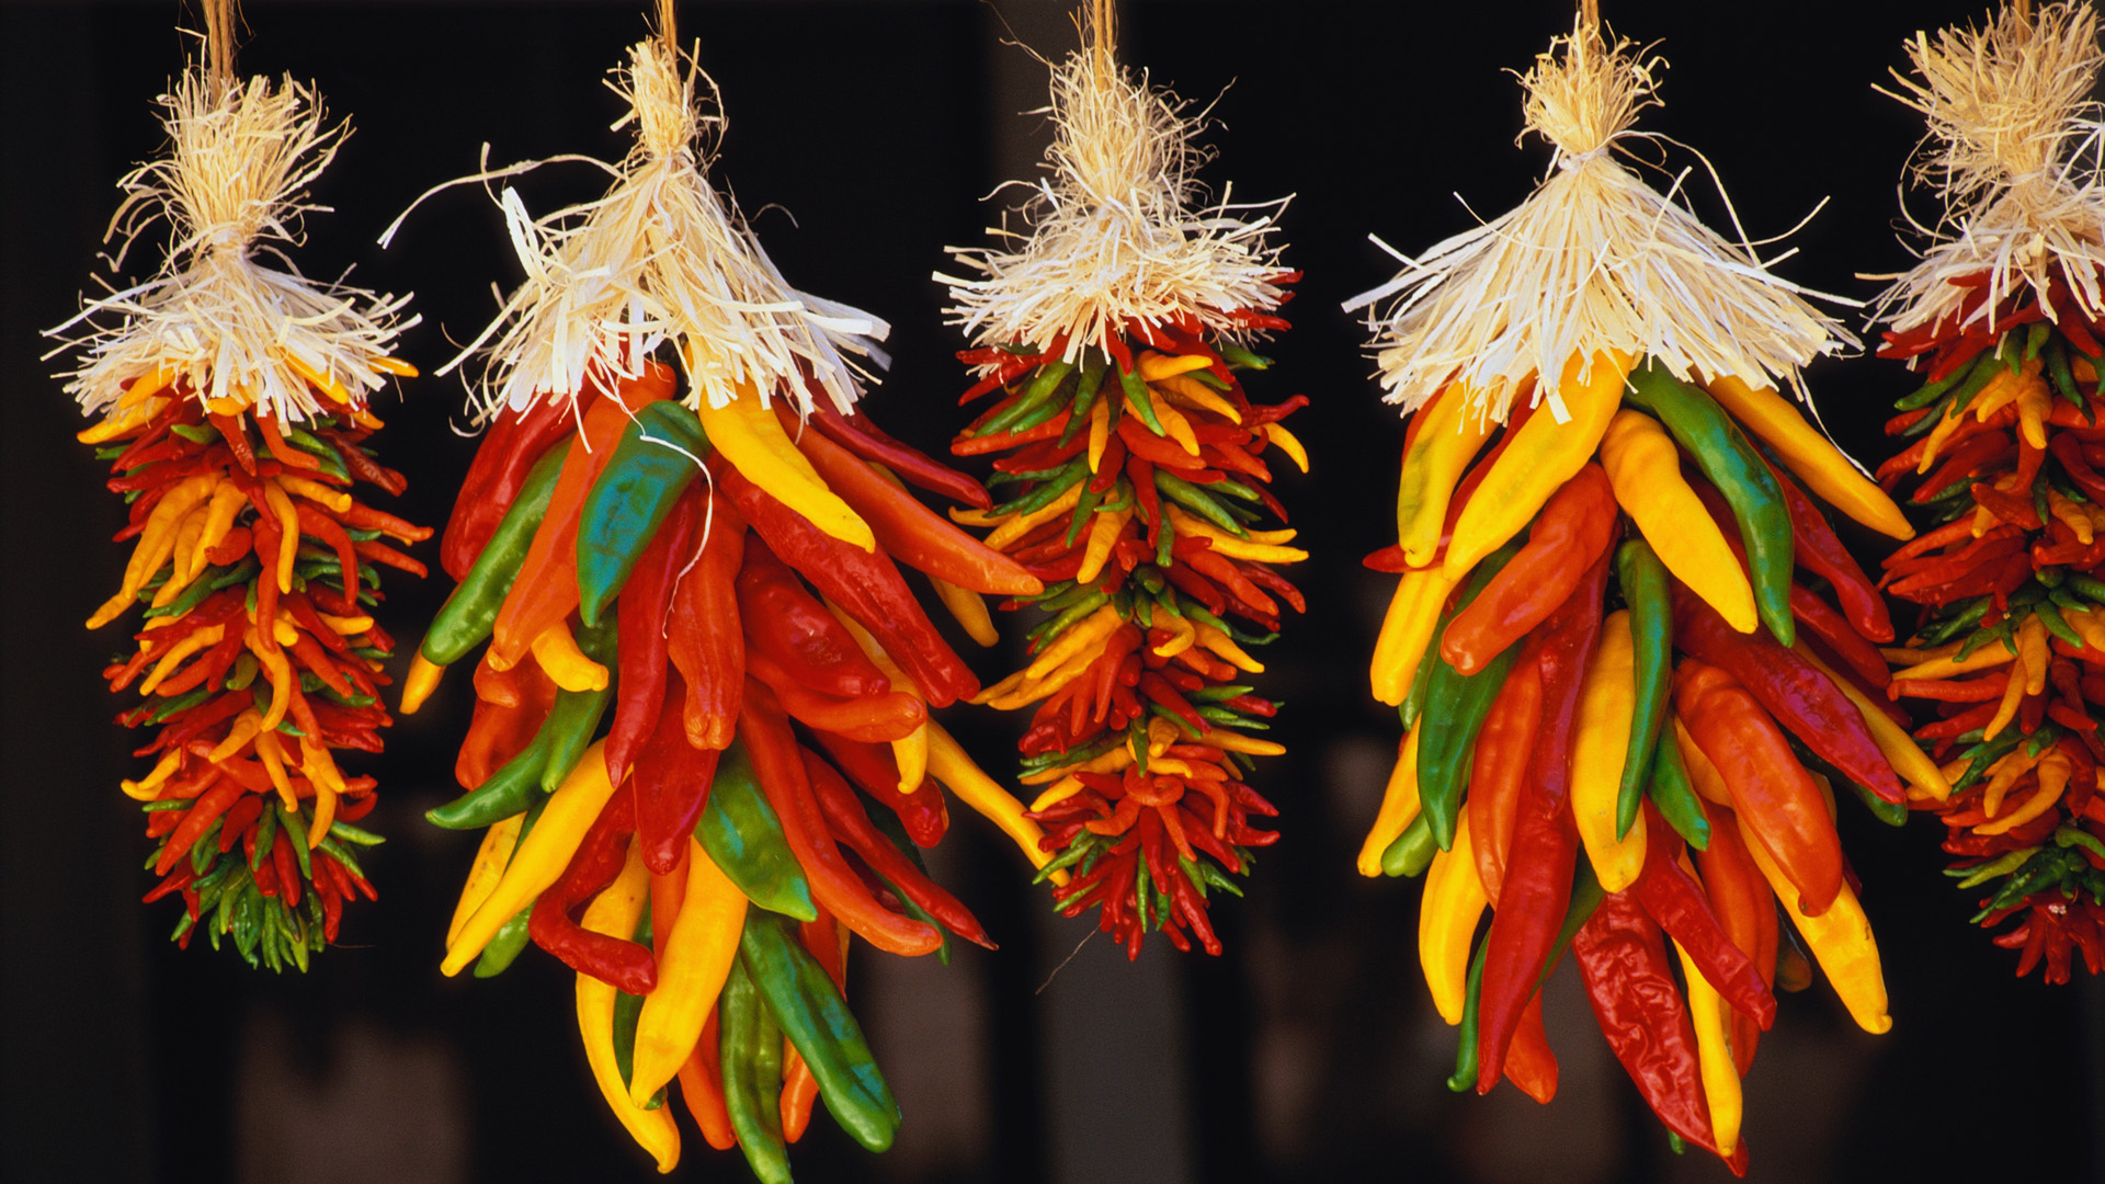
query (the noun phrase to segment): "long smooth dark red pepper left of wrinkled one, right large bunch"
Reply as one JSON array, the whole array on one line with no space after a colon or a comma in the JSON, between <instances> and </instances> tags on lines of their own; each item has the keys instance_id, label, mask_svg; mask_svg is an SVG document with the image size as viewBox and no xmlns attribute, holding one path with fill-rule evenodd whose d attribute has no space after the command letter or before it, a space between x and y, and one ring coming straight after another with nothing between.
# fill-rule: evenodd
<instances>
[{"instance_id":1,"label":"long smooth dark red pepper left of wrinkled one, right large bunch","mask_svg":"<svg viewBox=\"0 0 2105 1184\"><path fill-rule=\"evenodd\" d=\"M1575 596L1579 594L1585 594L1585 588L1575 592ZM1600 592L1596 592L1593 603L1600 603ZM1499 910L1490 914L1490 931L1484 935L1484 982L1478 990L1476 1030L1478 1093L1490 1093L1505 1077L1505 1049L1520 1024L1520 1011L1541 986L1549 948L1556 944L1564 910L1570 906L1579 828L1572 826L1568 798L1560 796L1553 807L1545 805L1545 798L1556 792L1543 769L1545 761L1549 761L1549 746L1537 744L1528 786L1522 790L1520 811L1513 820L1513 851L1505 864Z\"/></svg>"}]
</instances>

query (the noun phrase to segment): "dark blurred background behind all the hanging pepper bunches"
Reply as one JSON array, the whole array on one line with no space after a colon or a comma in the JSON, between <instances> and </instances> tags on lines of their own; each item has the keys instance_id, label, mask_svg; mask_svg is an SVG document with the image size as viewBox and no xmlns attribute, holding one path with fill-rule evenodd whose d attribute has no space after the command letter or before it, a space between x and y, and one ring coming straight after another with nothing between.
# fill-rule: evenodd
<instances>
[{"instance_id":1,"label":"dark blurred background behind all the hanging pepper bunches","mask_svg":"<svg viewBox=\"0 0 2105 1184\"><path fill-rule=\"evenodd\" d=\"M423 206L392 251L373 240L427 185L560 152L619 158L625 137L602 72L644 32L640 4L250 4L240 65L316 80L358 129L316 190L341 213L307 221L301 265L417 291L423 324L402 352L436 369L518 278L493 206L472 188ZM886 316L890 379L869 411L937 449L962 421L960 346L928 274L945 244L979 244L981 198L1021 175L1044 137L1044 70L1000 42L1006 21L1065 53L1063 6L1010 0L682 6L722 84L730 129L716 175L754 213L791 282ZM1709 154L1749 234L1793 225L1779 270L1869 297L1859 272L1897 272L1894 190L1918 122L1871 86L1903 65L1918 27L1972 4L1610 2L1608 19L1659 38L1673 63L1665 110L1644 126ZM69 434L76 409L40 360L40 327L88 284L112 183L158 152L152 99L185 53L173 4L0 6L0 1176L32 1180L642 1180L644 1157L606 1114L577 1049L570 975L526 954L495 982L438 975L474 836L417 813L450 796L465 680L400 721L383 805L392 838L370 862L381 902L356 908L345 944L307 975L253 973L232 954L177 952L139 815L116 792L135 771L97 678L122 638L88 636L116 586L107 535L122 504ZM196 17L189 17L196 23ZM1501 1087L1440 1087L1452 1037L1419 982L1417 885L1351 872L1396 723L1366 693L1366 653L1387 579L1358 556L1391 541L1402 438L1375 398L1364 331L1339 301L1387 278L1362 236L1404 251L1518 202L1547 162L1516 150L1526 67L1568 27L1562 4L1132 2L1124 57L1189 99L1219 101L1208 183L1238 198L1297 194L1288 261L1307 270L1297 329L1269 352L1261 398L1307 392L1292 428L1316 472L1282 476L1314 552L1299 579L1309 617L1265 655L1286 699L1292 754L1259 773L1284 838L1246 902L1215 914L1221 959L1151 942L1139 965L1088 921L1046 916L1021 862L960 811L939 872L1002 942L951 967L859 956L853 999L907 1110L899 1146L867 1157L827 1121L796 1148L804 1180L1722 1180L1676 1159L1608 1058L1564 971L1549 994L1564 1085L1549 1108ZM1225 93L1223 93L1225 91ZM1673 166L1695 164L1686 154ZM592 196L592 169L520 183L535 211ZM1724 213L1701 173L1692 202ZM766 206L766 209L762 209ZM1922 211L1928 204L1922 202ZM152 268L135 255L128 274ZM107 270L101 270L107 276ZM1848 312L1852 324L1857 312ZM1882 407L1905 377L1876 360L1819 362L1815 398L1844 447L1880 457ZM400 510L444 520L474 442L448 432L457 379L404 383L379 407L383 459L413 489ZM1863 535L1867 558L1876 541ZM442 577L389 581L383 619L415 636ZM1006 670L981 655L983 674ZM1002 775L1015 718L951 725ZM1966 925L1970 902L1939 874L1941 828L1876 826L1844 811L1886 959L1894 1030L1857 1032L1825 984L1787 996L1747 1081L1758 1180L1857 1180L2101 1171L2092 984L2012 980L2014 954ZM741 1159L686 1129L682 1173L745 1180Z\"/></svg>"}]
</instances>

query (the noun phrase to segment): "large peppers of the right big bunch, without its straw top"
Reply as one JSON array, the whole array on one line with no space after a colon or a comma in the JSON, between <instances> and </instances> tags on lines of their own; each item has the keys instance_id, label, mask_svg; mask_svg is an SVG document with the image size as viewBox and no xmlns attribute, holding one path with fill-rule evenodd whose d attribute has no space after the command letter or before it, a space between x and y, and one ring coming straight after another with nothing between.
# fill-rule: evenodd
<instances>
[{"instance_id":1,"label":"large peppers of the right big bunch, without its straw top","mask_svg":"<svg viewBox=\"0 0 2105 1184\"><path fill-rule=\"evenodd\" d=\"M1360 872L1427 874L1452 1089L1556 1093L1539 990L1570 950L1676 1146L1745 1171L1741 1077L1779 978L1810 971L1777 902L1857 1022L1890 1026L1815 769L1888 822L1901 775L1934 777L1878 695L1878 592L1791 474L1905 520L1775 392L1636 362L1575 358L1568 421L1522 392L1501 430L1463 383L1412 417L1400 541L1368 558L1402 573L1372 685L1408 731Z\"/></svg>"}]
</instances>

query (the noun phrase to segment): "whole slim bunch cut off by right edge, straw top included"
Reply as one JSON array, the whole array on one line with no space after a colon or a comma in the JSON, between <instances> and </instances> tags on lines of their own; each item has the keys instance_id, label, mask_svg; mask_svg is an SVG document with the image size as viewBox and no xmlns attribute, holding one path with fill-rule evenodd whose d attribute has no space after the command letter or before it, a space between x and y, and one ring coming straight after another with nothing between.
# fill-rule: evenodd
<instances>
[{"instance_id":1,"label":"whole slim bunch cut off by right edge, straw top included","mask_svg":"<svg viewBox=\"0 0 2105 1184\"><path fill-rule=\"evenodd\" d=\"M1983 889L1977 923L2017 925L2017 973L2067 982L2076 952L2105 971L2105 211L2078 164L2092 135L2094 15L2052 4L1987 29L1909 42L1964 236L1930 246L1888 293L1882 358L1924 386L1886 423L1913 438L1880 466L1937 525L1886 560L1884 588L1922 605L1888 657L1894 699L1932 704L1916 737L1956 792L1924 798L1947 826L1947 874ZM2078 173L2078 169L2084 169ZM2046 251L2038 251L2046 244Z\"/></svg>"}]
</instances>

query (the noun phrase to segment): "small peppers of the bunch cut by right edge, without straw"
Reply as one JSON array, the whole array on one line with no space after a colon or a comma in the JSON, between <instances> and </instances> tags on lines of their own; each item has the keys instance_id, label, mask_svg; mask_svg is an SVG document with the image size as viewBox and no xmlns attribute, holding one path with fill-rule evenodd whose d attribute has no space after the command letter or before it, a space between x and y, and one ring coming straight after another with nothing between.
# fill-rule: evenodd
<instances>
[{"instance_id":1,"label":"small peppers of the bunch cut by right edge, without straw","mask_svg":"<svg viewBox=\"0 0 2105 1184\"><path fill-rule=\"evenodd\" d=\"M1928 379L1886 423L1916 442L1880 466L1934 514L1886 560L1884 588L1922 605L1890 651L1890 695L1937 704L1916 737L1949 761L1947 874L1989 887L1974 916L2017 925L1996 944L2023 950L2017 973L2067 982L2076 950L2105 971L2105 426L2090 407L2105 318L2065 276L1989 305L1983 272L1947 316L1886 333L1884 358Z\"/></svg>"}]
</instances>

